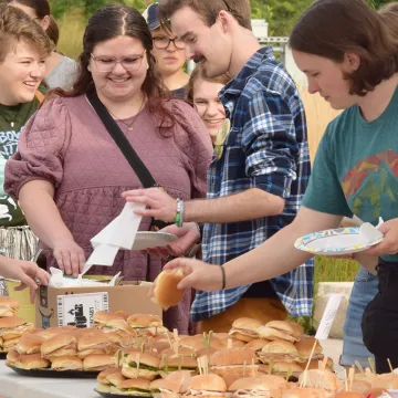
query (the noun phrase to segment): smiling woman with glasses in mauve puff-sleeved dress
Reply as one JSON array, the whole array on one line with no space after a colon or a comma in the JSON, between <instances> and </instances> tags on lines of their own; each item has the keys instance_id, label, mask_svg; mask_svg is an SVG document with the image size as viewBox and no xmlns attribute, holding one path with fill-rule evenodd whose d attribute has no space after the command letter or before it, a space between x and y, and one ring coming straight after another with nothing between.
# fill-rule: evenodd
<instances>
[{"instance_id":1,"label":"smiling woman with glasses in mauve puff-sleeved dress","mask_svg":"<svg viewBox=\"0 0 398 398\"><path fill-rule=\"evenodd\" d=\"M106 25L106 29L103 27ZM122 193L143 187L137 172L88 102L96 97L154 180L175 198L203 198L212 146L195 109L163 90L143 15L107 6L88 21L72 91L57 90L24 127L6 167L7 192L20 201L40 238L46 265L76 276L93 248L90 240L125 206ZM143 218L139 229L151 229ZM164 262L121 250L113 266L91 274L154 281ZM188 334L190 292L164 314L169 328Z\"/></svg>"}]
</instances>

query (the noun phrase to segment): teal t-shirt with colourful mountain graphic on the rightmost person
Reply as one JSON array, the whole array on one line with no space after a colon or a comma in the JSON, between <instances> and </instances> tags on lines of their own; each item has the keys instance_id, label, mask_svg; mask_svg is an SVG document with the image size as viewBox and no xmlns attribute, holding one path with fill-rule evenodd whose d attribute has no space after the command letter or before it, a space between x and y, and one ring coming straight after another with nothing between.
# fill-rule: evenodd
<instances>
[{"instance_id":1,"label":"teal t-shirt with colourful mountain graphic on the rightmost person","mask_svg":"<svg viewBox=\"0 0 398 398\"><path fill-rule=\"evenodd\" d=\"M352 106L329 123L302 205L374 226L398 218L398 88L377 119L366 122Z\"/></svg>"}]
</instances>

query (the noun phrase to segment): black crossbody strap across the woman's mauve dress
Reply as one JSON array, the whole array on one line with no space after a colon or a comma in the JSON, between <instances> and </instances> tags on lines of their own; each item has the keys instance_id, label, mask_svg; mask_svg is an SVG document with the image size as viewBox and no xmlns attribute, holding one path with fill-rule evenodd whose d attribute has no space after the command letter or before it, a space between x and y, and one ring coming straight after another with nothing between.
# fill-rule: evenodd
<instances>
[{"instance_id":1,"label":"black crossbody strap across the woman's mauve dress","mask_svg":"<svg viewBox=\"0 0 398 398\"><path fill-rule=\"evenodd\" d=\"M102 123L106 127L107 132L109 133L111 137L114 139L118 148L122 150L124 157L132 166L132 169L135 171L138 179L143 184L143 187L144 188L159 187L159 185L155 181L154 177L151 176L147 167L144 165L140 157L132 147L126 136L121 130L119 126L113 119L113 117L111 116L104 104L100 101L96 92L94 90L88 91L86 93L86 96L90 103L92 104L94 111L101 118ZM168 224L164 221L153 218L151 226L154 227L155 230L159 230Z\"/></svg>"}]
</instances>

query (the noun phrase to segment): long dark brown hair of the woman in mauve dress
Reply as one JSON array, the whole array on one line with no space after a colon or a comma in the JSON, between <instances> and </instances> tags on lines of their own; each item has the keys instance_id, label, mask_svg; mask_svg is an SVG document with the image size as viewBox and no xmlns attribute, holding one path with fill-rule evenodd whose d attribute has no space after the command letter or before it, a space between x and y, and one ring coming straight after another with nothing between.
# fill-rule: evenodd
<instances>
[{"instance_id":1,"label":"long dark brown hair of the woman in mauve dress","mask_svg":"<svg viewBox=\"0 0 398 398\"><path fill-rule=\"evenodd\" d=\"M144 17L132 7L111 4L94 12L84 32L83 52L78 56L78 76L72 91L55 88L49 94L49 97L54 95L76 97L93 90L93 76L87 66L94 46L119 35L138 39L146 50L149 67L142 90L148 98L149 112L160 121L159 128L163 132L164 127L167 126L169 128L176 122L166 104L170 96L155 67L156 61L151 54L153 38L148 25Z\"/></svg>"}]
</instances>

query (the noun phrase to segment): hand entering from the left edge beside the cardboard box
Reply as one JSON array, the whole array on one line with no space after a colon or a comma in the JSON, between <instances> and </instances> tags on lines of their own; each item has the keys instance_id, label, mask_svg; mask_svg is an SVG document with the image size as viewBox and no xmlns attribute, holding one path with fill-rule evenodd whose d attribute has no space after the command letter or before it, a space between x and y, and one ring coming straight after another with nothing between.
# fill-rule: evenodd
<instances>
[{"instance_id":1,"label":"hand entering from the left edge beside the cardboard box","mask_svg":"<svg viewBox=\"0 0 398 398\"><path fill-rule=\"evenodd\" d=\"M50 282L50 274L40 269L36 263L8 259L6 256L0 256L0 275L21 281L21 284L15 287L17 291L29 287L32 303L34 302L35 291L39 287L36 281L43 285L48 285Z\"/></svg>"}]
</instances>

